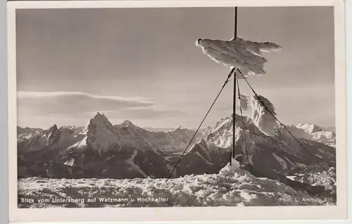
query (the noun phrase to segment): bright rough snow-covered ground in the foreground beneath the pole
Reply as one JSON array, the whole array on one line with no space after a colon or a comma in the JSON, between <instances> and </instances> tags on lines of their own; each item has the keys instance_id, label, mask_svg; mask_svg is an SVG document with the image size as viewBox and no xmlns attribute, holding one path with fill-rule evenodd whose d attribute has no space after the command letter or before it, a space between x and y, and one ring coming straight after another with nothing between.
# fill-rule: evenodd
<instances>
[{"instance_id":1,"label":"bright rough snow-covered ground in the foreground beneath the pole","mask_svg":"<svg viewBox=\"0 0 352 224\"><path fill-rule=\"evenodd\" d=\"M166 179L18 180L20 208L334 205L287 185L225 167L220 174Z\"/></svg>"}]
</instances>

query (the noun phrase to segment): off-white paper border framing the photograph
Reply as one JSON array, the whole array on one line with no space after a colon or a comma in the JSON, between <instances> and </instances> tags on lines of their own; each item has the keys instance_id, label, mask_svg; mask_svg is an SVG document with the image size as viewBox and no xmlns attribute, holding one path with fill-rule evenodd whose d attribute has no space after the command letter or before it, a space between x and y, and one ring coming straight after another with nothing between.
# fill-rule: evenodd
<instances>
[{"instance_id":1,"label":"off-white paper border framing the photograph","mask_svg":"<svg viewBox=\"0 0 352 224\"><path fill-rule=\"evenodd\" d=\"M16 8L171 8L249 6L334 6L336 206L246 206L170 208L18 209L16 110ZM10 222L342 220L347 218L345 17L343 0L237 1L8 1L8 204Z\"/></svg>"}]
</instances>

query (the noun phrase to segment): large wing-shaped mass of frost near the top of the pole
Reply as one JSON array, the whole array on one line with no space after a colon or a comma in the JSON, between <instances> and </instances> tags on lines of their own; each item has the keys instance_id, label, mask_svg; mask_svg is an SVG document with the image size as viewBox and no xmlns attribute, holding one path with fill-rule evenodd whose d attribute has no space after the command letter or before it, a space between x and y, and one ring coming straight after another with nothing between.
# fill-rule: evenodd
<instances>
[{"instance_id":1,"label":"large wing-shaped mass of frost near the top of the pole","mask_svg":"<svg viewBox=\"0 0 352 224\"><path fill-rule=\"evenodd\" d=\"M282 47L272 42L251 42L241 37L228 41L220 39L198 39L196 46L203 49L217 63L228 67L236 67L244 76L264 75L264 63L267 61L261 53L279 51ZM241 78L241 75L237 75Z\"/></svg>"}]
</instances>

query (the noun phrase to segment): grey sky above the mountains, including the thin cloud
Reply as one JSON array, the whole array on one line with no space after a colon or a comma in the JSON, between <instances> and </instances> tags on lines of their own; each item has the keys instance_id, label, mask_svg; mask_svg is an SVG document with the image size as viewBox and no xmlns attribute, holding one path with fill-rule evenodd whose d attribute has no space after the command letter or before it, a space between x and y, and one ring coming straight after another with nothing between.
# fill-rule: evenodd
<instances>
[{"instance_id":1,"label":"grey sky above the mountains, including the thin cloud","mask_svg":"<svg viewBox=\"0 0 352 224\"><path fill-rule=\"evenodd\" d=\"M238 9L239 37L282 46L263 54L265 75L248 78L282 123L334 126L333 18L323 6ZM195 42L233 33L234 8L19 9L18 125L85 125L99 111L113 124L198 127L229 68ZM231 116L232 88L204 127Z\"/></svg>"}]
</instances>

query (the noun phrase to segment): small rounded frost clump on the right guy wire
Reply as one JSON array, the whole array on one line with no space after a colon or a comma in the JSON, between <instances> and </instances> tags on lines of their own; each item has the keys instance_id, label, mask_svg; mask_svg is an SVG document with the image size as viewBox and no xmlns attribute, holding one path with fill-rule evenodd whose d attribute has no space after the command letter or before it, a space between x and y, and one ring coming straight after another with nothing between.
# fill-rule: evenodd
<instances>
[{"instance_id":1,"label":"small rounded frost clump on the right guy wire","mask_svg":"<svg viewBox=\"0 0 352 224\"><path fill-rule=\"evenodd\" d=\"M266 108L260 101L263 102ZM276 116L274 105L272 105L269 99L266 99L265 97L260 95L253 96L251 99L251 104L253 107L253 123L265 135L274 136L275 128L277 128L279 125L274 116L272 116ZM268 109L272 114L268 111Z\"/></svg>"}]
</instances>

